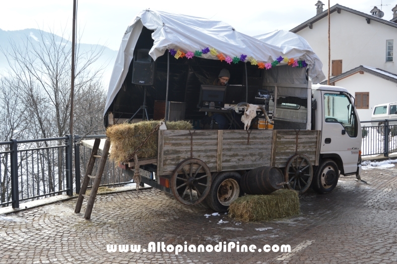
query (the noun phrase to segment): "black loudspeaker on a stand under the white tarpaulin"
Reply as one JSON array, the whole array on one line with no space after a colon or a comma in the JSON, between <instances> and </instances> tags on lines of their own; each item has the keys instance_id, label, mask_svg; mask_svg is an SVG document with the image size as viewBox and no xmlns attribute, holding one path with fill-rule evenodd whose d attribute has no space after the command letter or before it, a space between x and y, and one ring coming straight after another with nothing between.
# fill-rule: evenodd
<instances>
[{"instance_id":1,"label":"black loudspeaker on a stand under the white tarpaulin","mask_svg":"<svg viewBox=\"0 0 397 264\"><path fill-rule=\"evenodd\" d=\"M132 83L139 85L153 85L154 61L149 50L139 49L133 58Z\"/></svg>"}]
</instances>

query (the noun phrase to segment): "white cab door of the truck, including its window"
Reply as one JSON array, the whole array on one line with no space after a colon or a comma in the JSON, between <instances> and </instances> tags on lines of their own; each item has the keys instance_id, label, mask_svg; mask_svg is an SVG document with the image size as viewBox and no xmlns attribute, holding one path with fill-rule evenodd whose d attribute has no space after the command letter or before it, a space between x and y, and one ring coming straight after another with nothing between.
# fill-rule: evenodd
<instances>
[{"instance_id":1,"label":"white cab door of the truck, including its window","mask_svg":"<svg viewBox=\"0 0 397 264\"><path fill-rule=\"evenodd\" d=\"M347 94L322 91L321 154L339 155L344 173L357 171L361 133L358 133L358 117L353 102ZM339 168L341 170L341 168Z\"/></svg>"}]
</instances>

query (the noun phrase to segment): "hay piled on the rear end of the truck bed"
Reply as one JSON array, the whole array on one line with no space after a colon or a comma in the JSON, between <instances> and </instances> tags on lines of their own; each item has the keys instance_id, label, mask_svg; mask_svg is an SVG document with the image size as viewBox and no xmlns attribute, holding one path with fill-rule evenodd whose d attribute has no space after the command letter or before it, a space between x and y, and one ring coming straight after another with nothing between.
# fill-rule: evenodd
<instances>
[{"instance_id":1,"label":"hay piled on the rear end of the truck bed","mask_svg":"<svg viewBox=\"0 0 397 264\"><path fill-rule=\"evenodd\" d=\"M133 151L145 140L159 121L141 121L133 124L118 124L106 130L110 139L112 151L109 158L117 163L125 161ZM187 121L169 121L168 130L191 130L192 124ZM139 159L157 156L158 133L153 133L137 153Z\"/></svg>"}]
</instances>

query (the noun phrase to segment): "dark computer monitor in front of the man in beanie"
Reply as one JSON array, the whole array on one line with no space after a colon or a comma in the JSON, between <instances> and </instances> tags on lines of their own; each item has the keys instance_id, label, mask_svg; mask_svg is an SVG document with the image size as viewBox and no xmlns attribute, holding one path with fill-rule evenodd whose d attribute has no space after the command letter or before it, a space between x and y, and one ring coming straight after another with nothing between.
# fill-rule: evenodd
<instances>
[{"instance_id":1,"label":"dark computer monitor in front of the man in beanie","mask_svg":"<svg viewBox=\"0 0 397 264\"><path fill-rule=\"evenodd\" d=\"M198 107L223 107L226 97L226 86L201 85Z\"/></svg>"}]
</instances>

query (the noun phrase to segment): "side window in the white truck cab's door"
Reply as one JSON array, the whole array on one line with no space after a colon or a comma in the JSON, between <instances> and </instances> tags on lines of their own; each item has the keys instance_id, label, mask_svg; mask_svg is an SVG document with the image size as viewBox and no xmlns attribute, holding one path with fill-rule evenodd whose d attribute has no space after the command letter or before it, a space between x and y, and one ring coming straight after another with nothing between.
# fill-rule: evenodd
<instances>
[{"instance_id":1,"label":"side window in the white truck cab's door","mask_svg":"<svg viewBox=\"0 0 397 264\"><path fill-rule=\"evenodd\" d=\"M354 107L347 95L326 93L324 95L324 108L325 122L339 123L349 136L357 136Z\"/></svg>"}]
</instances>

